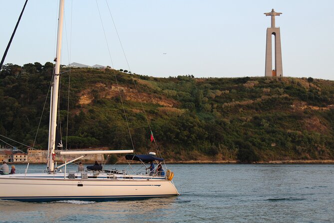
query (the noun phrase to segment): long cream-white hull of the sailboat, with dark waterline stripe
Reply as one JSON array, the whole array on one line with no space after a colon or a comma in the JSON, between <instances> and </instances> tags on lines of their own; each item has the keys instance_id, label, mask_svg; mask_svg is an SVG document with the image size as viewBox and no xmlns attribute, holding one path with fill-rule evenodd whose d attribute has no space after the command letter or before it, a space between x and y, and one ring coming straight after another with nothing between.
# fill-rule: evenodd
<instances>
[{"instance_id":1,"label":"long cream-white hull of the sailboat, with dark waterline stripe","mask_svg":"<svg viewBox=\"0 0 334 223\"><path fill-rule=\"evenodd\" d=\"M92 173L93 174L93 173ZM67 174L66 174L67 175ZM64 173L0 175L0 199L20 201L57 201L131 199L177 195L172 181L145 175L110 175L97 178L64 178ZM108 178L109 176L109 178Z\"/></svg>"}]
</instances>

